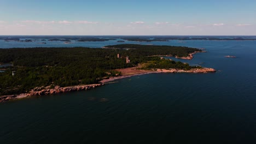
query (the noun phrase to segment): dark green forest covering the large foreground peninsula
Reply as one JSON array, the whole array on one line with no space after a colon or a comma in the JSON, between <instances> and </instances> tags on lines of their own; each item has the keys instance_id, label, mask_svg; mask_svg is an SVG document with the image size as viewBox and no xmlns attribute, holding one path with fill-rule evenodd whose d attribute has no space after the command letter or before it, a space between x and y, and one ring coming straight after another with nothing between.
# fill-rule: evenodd
<instances>
[{"instance_id":1,"label":"dark green forest covering the large foreground peninsula","mask_svg":"<svg viewBox=\"0 0 256 144\"><path fill-rule=\"evenodd\" d=\"M154 55L187 56L199 49L179 46L112 45L120 49L86 47L0 49L0 63L12 63L0 73L0 95L28 92L38 86L73 86L98 83L121 75L115 69L148 63L144 69L194 67ZM130 48L130 49L123 49ZM120 58L117 57L119 53ZM129 56L130 63L125 57ZM2 68L3 69L3 68ZM16 71L13 76L12 71Z\"/></svg>"}]
</instances>

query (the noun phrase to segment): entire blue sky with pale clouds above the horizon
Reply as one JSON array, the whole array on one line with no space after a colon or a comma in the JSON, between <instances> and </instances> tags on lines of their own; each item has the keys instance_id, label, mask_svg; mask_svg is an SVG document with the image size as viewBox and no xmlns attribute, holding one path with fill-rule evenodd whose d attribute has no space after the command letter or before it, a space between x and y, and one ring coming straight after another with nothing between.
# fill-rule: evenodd
<instances>
[{"instance_id":1,"label":"entire blue sky with pale clouds above the horizon","mask_svg":"<svg viewBox=\"0 0 256 144\"><path fill-rule=\"evenodd\" d=\"M256 0L0 0L0 35L256 35Z\"/></svg>"}]
</instances>

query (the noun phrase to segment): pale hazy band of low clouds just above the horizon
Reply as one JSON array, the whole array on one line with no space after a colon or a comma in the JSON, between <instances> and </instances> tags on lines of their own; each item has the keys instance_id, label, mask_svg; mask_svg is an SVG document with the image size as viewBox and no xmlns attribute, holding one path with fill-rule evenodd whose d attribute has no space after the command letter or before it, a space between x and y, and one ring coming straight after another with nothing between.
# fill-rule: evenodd
<instances>
[{"instance_id":1,"label":"pale hazy band of low clouds just above the horizon","mask_svg":"<svg viewBox=\"0 0 256 144\"><path fill-rule=\"evenodd\" d=\"M2 35L255 35L255 33L254 23L242 22L207 24L167 21L0 21Z\"/></svg>"}]
</instances>

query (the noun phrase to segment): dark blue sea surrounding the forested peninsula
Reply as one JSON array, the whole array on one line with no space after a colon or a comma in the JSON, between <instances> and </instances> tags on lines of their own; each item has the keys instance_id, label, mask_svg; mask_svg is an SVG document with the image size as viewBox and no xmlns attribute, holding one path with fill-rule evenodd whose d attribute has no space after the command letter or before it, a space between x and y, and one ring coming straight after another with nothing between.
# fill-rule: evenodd
<instances>
[{"instance_id":1,"label":"dark blue sea surrounding the forested peninsula","mask_svg":"<svg viewBox=\"0 0 256 144\"><path fill-rule=\"evenodd\" d=\"M120 44L117 40L0 40L0 47L95 48ZM0 143L256 142L255 40L121 44L203 48L207 52L196 53L192 60L166 58L217 72L137 75L89 91L7 101L0 104Z\"/></svg>"}]
</instances>

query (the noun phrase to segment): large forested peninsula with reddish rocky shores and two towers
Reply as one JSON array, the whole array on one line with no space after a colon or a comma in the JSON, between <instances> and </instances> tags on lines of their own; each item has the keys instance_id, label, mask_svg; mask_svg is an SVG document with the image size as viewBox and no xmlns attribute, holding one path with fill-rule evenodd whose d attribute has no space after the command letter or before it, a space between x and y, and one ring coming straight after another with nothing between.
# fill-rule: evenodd
<instances>
[{"instance_id":1,"label":"large forested peninsula with reddish rocky shores and two towers","mask_svg":"<svg viewBox=\"0 0 256 144\"><path fill-rule=\"evenodd\" d=\"M0 62L13 64L0 73L0 102L32 95L83 91L135 75L216 71L160 57L192 59L195 53L204 52L200 49L136 44L104 47L108 49L0 49Z\"/></svg>"}]
</instances>

